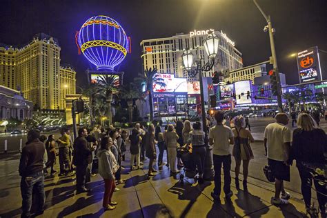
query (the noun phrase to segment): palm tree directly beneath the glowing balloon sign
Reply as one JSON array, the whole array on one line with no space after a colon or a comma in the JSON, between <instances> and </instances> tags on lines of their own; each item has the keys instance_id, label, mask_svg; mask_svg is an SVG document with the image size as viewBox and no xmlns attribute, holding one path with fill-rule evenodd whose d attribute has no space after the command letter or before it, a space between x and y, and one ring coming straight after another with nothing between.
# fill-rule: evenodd
<instances>
[{"instance_id":1,"label":"palm tree directly beneath the glowing balloon sign","mask_svg":"<svg viewBox=\"0 0 327 218\"><path fill-rule=\"evenodd\" d=\"M117 93L118 91L118 88L116 88L115 85L117 85L117 77L112 75L99 76L96 90L99 93L99 95L102 95L106 99L106 104L107 104L106 116L108 117L109 124L112 123L112 112L111 112L112 95Z\"/></svg>"}]
</instances>

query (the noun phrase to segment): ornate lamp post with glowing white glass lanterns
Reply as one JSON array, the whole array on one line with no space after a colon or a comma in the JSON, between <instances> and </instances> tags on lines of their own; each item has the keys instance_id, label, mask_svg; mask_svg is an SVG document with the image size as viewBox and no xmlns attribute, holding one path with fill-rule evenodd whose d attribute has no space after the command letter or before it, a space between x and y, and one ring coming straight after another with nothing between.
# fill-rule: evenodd
<instances>
[{"instance_id":1,"label":"ornate lamp post with glowing white glass lanterns","mask_svg":"<svg viewBox=\"0 0 327 218\"><path fill-rule=\"evenodd\" d=\"M206 50L206 54L208 54L207 63L204 63L204 59L201 59L199 46L197 47L196 60L193 59L193 54L188 49L184 51L182 59L184 63L184 68L188 71L189 77L195 77L197 74L199 74L202 126L204 132L207 132L208 130L206 126L206 110L204 107L204 84L202 79L202 71L209 71L212 69L215 63L215 57L218 53L219 39L213 32L210 32L206 39L204 39L203 45L204 49ZM193 65L193 62L195 62L195 65Z\"/></svg>"}]
</instances>

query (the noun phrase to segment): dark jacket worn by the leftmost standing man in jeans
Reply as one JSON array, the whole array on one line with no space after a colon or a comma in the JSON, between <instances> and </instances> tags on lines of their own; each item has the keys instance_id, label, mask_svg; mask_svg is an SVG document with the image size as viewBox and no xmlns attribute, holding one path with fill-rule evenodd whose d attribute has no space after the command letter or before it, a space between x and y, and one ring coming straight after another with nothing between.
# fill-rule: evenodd
<instances>
[{"instance_id":1,"label":"dark jacket worn by the leftmost standing man in jeans","mask_svg":"<svg viewBox=\"0 0 327 218\"><path fill-rule=\"evenodd\" d=\"M19 175L29 177L43 170L43 156L46 151L44 143L39 139L26 143L19 161Z\"/></svg>"}]
</instances>

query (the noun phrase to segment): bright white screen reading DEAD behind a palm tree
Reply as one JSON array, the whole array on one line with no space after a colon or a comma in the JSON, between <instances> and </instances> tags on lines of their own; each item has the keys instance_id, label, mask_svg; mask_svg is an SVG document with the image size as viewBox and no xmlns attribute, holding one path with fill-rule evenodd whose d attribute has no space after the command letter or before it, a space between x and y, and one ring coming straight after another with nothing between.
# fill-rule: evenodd
<instances>
[{"instance_id":1,"label":"bright white screen reading DEAD behind a palm tree","mask_svg":"<svg viewBox=\"0 0 327 218\"><path fill-rule=\"evenodd\" d=\"M170 74L157 74L152 84L153 92L188 92L186 78Z\"/></svg>"}]
</instances>

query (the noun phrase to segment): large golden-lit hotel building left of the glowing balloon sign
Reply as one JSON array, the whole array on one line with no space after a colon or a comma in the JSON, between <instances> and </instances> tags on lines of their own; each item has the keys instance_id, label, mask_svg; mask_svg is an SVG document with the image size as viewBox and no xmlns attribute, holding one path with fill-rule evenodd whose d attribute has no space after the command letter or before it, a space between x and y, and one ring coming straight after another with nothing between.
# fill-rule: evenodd
<instances>
[{"instance_id":1,"label":"large golden-lit hotel building left of the glowing balloon sign","mask_svg":"<svg viewBox=\"0 0 327 218\"><path fill-rule=\"evenodd\" d=\"M0 44L0 85L20 90L36 108L65 108L64 93L76 92L76 72L61 72L60 50L58 40L44 33L20 48Z\"/></svg>"}]
</instances>

